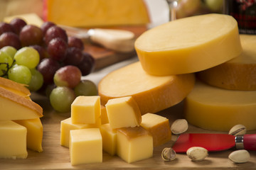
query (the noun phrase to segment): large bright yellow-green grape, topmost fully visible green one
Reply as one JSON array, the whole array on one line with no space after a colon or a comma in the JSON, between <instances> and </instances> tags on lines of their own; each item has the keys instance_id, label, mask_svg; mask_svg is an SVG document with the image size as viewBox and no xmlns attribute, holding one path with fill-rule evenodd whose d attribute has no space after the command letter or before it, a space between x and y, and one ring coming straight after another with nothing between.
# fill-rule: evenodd
<instances>
[{"instance_id":1,"label":"large bright yellow-green grape, topmost fully visible green one","mask_svg":"<svg viewBox=\"0 0 256 170\"><path fill-rule=\"evenodd\" d=\"M23 65L29 69L33 69L38 65L40 56L38 51L33 47L23 47L16 52L14 60L16 60L16 64L18 65Z\"/></svg>"}]
</instances>

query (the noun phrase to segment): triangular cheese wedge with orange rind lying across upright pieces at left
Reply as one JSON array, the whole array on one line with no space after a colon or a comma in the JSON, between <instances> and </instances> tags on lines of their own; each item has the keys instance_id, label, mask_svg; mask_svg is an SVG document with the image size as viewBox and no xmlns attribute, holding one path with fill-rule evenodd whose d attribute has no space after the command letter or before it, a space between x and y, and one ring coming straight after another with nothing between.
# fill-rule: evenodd
<instances>
[{"instance_id":1,"label":"triangular cheese wedge with orange rind lying across upright pieces at left","mask_svg":"<svg viewBox=\"0 0 256 170\"><path fill-rule=\"evenodd\" d=\"M41 118L43 108L18 94L0 87L0 120L23 120Z\"/></svg>"}]
</instances>

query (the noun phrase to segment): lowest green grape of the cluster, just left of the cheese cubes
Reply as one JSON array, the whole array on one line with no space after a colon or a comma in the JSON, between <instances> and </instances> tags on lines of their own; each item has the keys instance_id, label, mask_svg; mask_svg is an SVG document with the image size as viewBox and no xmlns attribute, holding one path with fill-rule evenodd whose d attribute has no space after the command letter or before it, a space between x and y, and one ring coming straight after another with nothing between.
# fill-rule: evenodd
<instances>
[{"instance_id":1,"label":"lowest green grape of the cluster, just left of the cheese cubes","mask_svg":"<svg viewBox=\"0 0 256 170\"><path fill-rule=\"evenodd\" d=\"M50 104L55 111L68 112L71 109L71 104L75 100L73 89L66 86L57 86L50 92Z\"/></svg>"}]
</instances>

